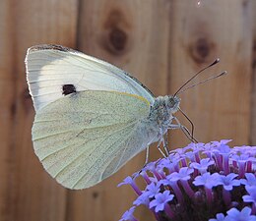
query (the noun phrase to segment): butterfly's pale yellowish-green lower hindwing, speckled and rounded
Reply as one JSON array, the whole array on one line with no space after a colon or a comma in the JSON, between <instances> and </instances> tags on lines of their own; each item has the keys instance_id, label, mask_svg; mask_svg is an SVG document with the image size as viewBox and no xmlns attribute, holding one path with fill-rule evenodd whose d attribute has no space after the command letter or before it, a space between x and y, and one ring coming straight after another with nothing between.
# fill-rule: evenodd
<instances>
[{"instance_id":1,"label":"butterfly's pale yellowish-green lower hindwing, speckled and rounded","mask_svg":"<svg viewBox=\"0 0 256 221\"><path fill-rule=\"evenodd\" d=\"M138 128L149 113L149 101L138 95L99 90L69 94L37 111L34 151L64 187L89 188L146 147L147 138L140 134L145 132Z\"/></svg>"}]
</instances>

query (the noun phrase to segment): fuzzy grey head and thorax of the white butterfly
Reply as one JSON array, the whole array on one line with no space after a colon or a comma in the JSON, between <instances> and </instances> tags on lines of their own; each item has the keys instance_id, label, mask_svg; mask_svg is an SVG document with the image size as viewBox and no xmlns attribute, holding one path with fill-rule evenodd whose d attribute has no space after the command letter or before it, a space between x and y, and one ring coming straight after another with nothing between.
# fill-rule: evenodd
<instances>
[{"instance_id":1,"label":"fuzzy grey head and thorax of the white butterfly","mask_svg":"<svg viewBox=\"0 0 256 221\"><path fill-rule=\"evenodd\" d=\"M163 134L171 124L172 115L178 110L179 103L180 98L177 96L165 95L156 98L151 108L149 119L157 122Z\"/></svg>"}]
</instances>

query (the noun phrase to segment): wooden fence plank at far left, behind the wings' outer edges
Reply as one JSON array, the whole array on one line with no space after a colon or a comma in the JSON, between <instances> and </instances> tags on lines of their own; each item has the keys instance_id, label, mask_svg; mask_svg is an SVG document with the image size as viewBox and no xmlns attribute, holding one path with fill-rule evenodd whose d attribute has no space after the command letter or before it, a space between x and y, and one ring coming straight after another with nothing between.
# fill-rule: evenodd
<instances>
[{"instance_id":1,"label":"wooden fence plank at far left, behind the wings' outer edges","mask_svg":"<svg viewBox=\"0 0 256 221\"><path fill-rule=\"evenodd\" d=\"M1 127L1 159L5 159L0 173L5 184L0 220L63 221L66 190L46 174L32 150L34 112L24 59L33 44L76 45L77 0L13 3L1 1L0 7L1 91L6 94L0 101L0 119L5 124Z\"/></svg>"}]
</instances>

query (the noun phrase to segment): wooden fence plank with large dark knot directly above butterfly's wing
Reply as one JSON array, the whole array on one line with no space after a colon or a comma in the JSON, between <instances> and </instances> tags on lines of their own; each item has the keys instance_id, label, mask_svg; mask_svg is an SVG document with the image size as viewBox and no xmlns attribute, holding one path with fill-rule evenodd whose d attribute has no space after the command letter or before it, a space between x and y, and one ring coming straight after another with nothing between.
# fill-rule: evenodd
<instances>
[{"instance_id":1,"label":"wooden fence plank with large dark knot directly above butterfly's wing","mask_svg":"<svg viewBox=\"0 0 256 221\"><path fill-rule=\"evenodd\" d=\"M155 0L82 1L79 49L132 73L157 95L166 94L169 6L169 1ZM157 159L159 152L153 148L152 158ZM142 153L96 187L70 192L68 220L118 220L132 205L135 194L130 187L116 186L144 161ZM140 220L152 218L143 213L138 214Z\"/></svg>"}]
</instances>

